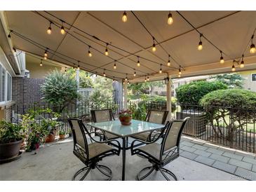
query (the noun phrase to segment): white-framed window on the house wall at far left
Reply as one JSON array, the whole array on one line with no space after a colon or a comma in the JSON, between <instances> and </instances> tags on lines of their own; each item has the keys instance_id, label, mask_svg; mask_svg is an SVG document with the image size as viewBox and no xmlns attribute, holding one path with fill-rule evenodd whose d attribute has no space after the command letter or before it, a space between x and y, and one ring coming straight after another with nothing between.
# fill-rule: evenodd
<instances>
[{"instance_id":1,"label":"white-framed window on the house wall at far left","mask_svg":"<svg viewBox=\"0 0 256 192\"><path fill-rule=\"evenodd\" d=\"M11 75L0 64L0 103L11 101Z\"/></svg>"}]
</instances>

